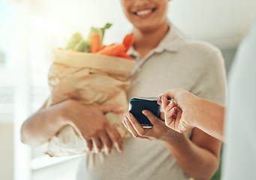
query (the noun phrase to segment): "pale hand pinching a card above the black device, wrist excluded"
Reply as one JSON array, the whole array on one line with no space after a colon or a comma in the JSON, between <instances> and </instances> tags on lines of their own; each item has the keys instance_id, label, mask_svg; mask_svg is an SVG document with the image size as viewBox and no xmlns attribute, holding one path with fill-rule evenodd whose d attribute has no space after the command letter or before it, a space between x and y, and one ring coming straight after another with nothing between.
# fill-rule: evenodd
<instances>
[{"instance_id":1,"label":"pale hand pinching a card above the black device, wrist excluded","mask_svg":"<svg viewBox=\"0 0 256 180\"><path fill-rule=\"evenodd\" d=\"M164 110L164 119L167 127L179 133L185 133L194 128L194 119L197 115L197 97L182 89L170 89L160 95L161 105ZM168 101L172 98L176 101ZM192 112L192 113L191 113Z\"/></svg>"}]
</instances>

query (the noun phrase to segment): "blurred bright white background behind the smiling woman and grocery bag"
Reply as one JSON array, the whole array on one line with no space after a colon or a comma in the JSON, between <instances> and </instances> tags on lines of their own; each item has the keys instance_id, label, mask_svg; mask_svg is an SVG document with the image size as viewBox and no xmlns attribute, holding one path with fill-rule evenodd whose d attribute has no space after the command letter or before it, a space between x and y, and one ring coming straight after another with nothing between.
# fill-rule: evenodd
<instances>
[{"instance_id":1,"label":"blurred bright white background behind the smiling woman and grocery bag","mask_svg":"<svg viewBox=\"0 0 256 180\"><path fill-rule=\"evenodd\" d=\"M256 17L254 0L172 0L168 17L185 37L218 46L227 76L240 40ZM20 142L20 126L50 95L53 48L76 31L113 26L104 43L121 43L131 25L119 0L0 0L0 179L74 179L80 156L48 157L46 145Z\"/></svg>"}]
</instances>

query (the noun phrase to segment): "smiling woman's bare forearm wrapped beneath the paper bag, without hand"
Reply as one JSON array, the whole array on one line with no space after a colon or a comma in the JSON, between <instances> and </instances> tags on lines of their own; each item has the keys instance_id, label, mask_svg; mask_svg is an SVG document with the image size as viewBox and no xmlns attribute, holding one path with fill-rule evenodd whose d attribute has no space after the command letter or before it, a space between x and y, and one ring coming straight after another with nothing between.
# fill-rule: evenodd
<instances>
[{"instance_id":1,"label":"smiling woman's bare forearm wrapped beneath the paper bag, without hand","mask_svg":"<svg viewBox=\"0 0 256 180\"><path fill-rule=\"evenodd\" d=\"M39 110L30 116L21 127L21 140L28 145L40 145L53 137L59 130L68 124L62 118L63 104Z\"/></svg>"}]
</instances>

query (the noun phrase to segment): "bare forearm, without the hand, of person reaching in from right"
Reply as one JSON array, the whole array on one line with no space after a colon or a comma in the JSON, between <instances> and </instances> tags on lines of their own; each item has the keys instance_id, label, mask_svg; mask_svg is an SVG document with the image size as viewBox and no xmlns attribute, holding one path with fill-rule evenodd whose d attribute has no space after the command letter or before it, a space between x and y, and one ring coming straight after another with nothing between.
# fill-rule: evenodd
<instances>
[{"instance_id":1,"label":"bare forearm, without the hand, of person reaching in from right","mask_svg":"<svg viewBox=\"0 0 256 180\"><path fill-rule=\"evenodd\" d=\"M194 107L198 111L194 113L197 115L194 119L194 126L223 141L225 107L203 98L198 98L198 100L199 105Z\"/></svg>"}]
</instances>

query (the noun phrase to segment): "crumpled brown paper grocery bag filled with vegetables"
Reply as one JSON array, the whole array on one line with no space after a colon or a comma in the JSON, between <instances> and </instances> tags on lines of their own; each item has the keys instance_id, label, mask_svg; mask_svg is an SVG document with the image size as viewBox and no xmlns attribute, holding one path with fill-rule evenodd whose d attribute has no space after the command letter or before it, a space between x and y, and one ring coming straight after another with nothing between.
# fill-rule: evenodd
<instances>
[{"instance_id":1,"label":"crumpled brown paper grocery bag filled with vegetables","mask_svg":"<svg viewBox=\"0 0 256 180\"><path fill-rule=\"evenodd\" d=\"M134 65L134 60L125 58L53 49L53 64L48 74L51 96L47 107L73 98L83 104L115 104L126 112L126 93ZM122 124L122 114L107 113L105 116L122 139L130 136ZM89 152L86 140L69 125L49 140L47 149L50 156L85 152Z\"/></svg>"}]
</instances>

